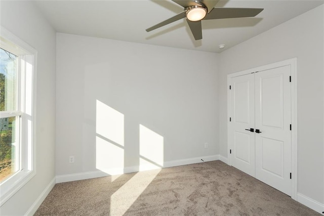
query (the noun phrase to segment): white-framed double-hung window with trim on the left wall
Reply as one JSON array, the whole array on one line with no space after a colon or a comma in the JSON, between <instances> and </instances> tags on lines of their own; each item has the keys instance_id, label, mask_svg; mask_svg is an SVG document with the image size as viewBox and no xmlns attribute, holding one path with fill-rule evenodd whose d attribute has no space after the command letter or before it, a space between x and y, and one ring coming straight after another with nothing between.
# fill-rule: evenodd
<instances>
[{"instance_id":1,"label":"white-framed double-hung window with trim on the left wall","mask_svg":"<svg viewBox=\"0 0 324 216\"><path fill-rule=\"evenodd\" d=\"M1 206L35 175L36 51L0 28Z\"/></svg>"}]
</instances>

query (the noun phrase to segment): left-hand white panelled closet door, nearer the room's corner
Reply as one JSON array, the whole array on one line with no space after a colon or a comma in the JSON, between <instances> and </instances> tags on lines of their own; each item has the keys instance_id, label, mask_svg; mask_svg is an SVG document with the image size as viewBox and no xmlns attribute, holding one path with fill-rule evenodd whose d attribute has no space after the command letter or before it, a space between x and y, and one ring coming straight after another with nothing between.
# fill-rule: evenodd
<instances>
[{"instance_id":1,"label":"left-hand white panelled closet door, nearer the room's corner","mask_svg":"<svg viewBox=\"0 0 324 216\"><path fill-rule=\"evenodd\" d=\"M232 147L231 163L232 166L254 177L254 74L233 77L230 85L231 123L228 133Z\"/></svg>"}]
</instances>

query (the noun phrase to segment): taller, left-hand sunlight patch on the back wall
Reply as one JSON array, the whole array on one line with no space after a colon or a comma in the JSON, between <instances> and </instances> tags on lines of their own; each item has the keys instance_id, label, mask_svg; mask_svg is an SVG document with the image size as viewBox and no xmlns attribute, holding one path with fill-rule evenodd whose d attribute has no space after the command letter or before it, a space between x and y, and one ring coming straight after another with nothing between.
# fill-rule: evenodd
<instances>
[{"instance_id":1,"label":"taller, left-hand sunlight patch on the back wall","mask_svg":"<svg viewBox=\"0 0 324 216\"><path fill-rule=\"evenodd\" d=\"M109 175L124 173L124 114L97 100L96 168Z\"/></svg>"}]
</instances>

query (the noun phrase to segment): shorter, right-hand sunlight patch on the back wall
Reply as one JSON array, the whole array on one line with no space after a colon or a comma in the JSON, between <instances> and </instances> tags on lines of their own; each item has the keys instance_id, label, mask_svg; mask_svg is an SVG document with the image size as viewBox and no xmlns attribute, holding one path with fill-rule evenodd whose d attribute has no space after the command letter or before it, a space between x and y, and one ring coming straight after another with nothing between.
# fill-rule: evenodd
<instances>
[{"instance_id":1,"label":"shorter, right-hand sunlight patch on the back wall","mask_svg":"<svg viewBox=\"0 0 324 216\"><path fill-rule=\"evenodd\" d=\"M164 165L164 138L140 124L139 170L156 169Z\"/></svg>"}]
</instances>

